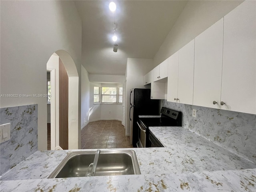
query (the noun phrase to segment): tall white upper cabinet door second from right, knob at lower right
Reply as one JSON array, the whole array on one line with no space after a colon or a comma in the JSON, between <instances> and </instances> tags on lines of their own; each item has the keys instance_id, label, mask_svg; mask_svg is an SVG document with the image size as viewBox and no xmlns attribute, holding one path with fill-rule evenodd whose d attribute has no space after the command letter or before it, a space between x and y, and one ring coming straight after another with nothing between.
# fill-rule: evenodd
<instances>
[{"instance_id":1,"label":"tall white upper cabinet door second from right, knob at lower right","mask_svg":"<svg viewBox=\"0 0 256 192\"><path fill-rule=\"evenodd\" d=\"M193 105L220 108L222 50L223 18L195 38Z\"/></svg>"}]
</instances>

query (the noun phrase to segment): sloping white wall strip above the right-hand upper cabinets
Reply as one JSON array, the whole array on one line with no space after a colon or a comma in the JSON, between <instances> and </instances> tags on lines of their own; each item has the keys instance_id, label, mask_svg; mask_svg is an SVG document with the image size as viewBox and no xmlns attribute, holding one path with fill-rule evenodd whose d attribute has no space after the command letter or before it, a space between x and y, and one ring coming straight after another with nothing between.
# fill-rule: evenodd
<instances>
[{"instance_id":1,"label":"sloping white wall strip above the right-hand upper cabinets","mask_svg":"<svg viewBox=\"0 0 256 192\"><path fill-rule=\"evenodd\" d=\"M160 49L154 66L170 57L243 1L188 1Z\"/></svg>"}]
</instances>

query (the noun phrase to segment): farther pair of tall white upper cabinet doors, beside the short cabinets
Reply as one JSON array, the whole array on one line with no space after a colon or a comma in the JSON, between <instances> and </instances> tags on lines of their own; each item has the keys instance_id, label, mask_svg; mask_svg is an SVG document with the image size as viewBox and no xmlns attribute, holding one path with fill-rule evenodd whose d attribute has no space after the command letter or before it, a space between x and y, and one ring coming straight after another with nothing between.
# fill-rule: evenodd
<instances>
[{"instance_id":1,"label":"farther pair of tall white upper cabinet doors, beside the short cabinets","mask_svg":"<svg viewBox=\"0 0 256 192\"><path fill-rule=\"evenodd\" d=\"M168 60L167 101L193 104L194 39Z\"/></svg>"}]
</instances>

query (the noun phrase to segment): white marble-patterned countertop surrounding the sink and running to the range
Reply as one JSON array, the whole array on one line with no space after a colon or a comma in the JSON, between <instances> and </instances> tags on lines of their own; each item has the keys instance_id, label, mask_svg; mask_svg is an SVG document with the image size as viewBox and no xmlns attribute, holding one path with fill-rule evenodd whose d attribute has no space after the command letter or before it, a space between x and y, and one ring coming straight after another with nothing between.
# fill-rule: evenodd
<instances>
[{"instance_id":1,"label":"white marble-patterned countertop surrounding the sink and running to the range","mask_svg":"<svg viewBox=\"0 0 256 192\"><path fill-rule=\"evenodd\" d=\"M166 147L132 148L141 175L47 179L68 152L79 150L37 151L0 178L1 191L256 190L254 163L183 127L150 131Z\"/></svg>"}]
</instances>

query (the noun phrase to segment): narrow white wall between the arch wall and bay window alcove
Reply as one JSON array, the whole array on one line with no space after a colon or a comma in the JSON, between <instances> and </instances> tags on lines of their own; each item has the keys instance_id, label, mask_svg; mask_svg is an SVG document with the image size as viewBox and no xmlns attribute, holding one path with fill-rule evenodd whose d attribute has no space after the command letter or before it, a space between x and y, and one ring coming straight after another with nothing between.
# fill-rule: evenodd
<instances>
[{"instance_id":1,"label":"narrow white wall between the arch wall and bay window alcove","mask_svg":"<svg viewBox=\"0 0 256 192\"><path fill-rule=\"evenodd\" d=\"M81 129L88 124L90 109L90 82L89 74L82 66L81 68Z\"/></svg>"}]
</instances>

